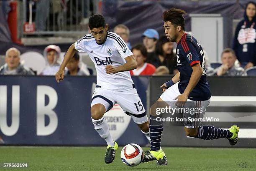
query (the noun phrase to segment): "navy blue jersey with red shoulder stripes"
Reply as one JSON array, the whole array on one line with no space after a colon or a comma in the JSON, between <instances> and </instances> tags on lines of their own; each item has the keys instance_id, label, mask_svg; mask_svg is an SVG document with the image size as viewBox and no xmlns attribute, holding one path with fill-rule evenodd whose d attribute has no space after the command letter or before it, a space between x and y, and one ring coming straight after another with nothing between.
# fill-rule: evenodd
<instances>
[{"instance_id":1,"label":"navy blue jersey with red shoulder stripes","mask_svg":"<svg viewBox=\"0 0 256 171\"><path fill-rule=\"evenodd\" d=\"M200 43L186 33L177 43L176 54L177 68L180 73L179 93L182 94L189 83L193 71L192 66L200 63L203 70L202 76L188 98L192 101L208 100L211 97L211 91L206 80L205 57Z\"/></svg>"}]
</instances>

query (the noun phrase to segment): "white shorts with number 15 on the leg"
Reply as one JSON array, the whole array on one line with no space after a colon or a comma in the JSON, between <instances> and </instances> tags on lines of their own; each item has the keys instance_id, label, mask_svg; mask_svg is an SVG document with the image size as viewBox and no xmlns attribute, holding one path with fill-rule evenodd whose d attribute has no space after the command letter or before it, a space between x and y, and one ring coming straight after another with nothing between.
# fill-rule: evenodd
<instances>
[{"instance_id":1,"label":"white shorts with number 15 on the leg","mask_svg":"<svg viewBox=\"0 0 256 171\"><path fill-rule=\"evenodd\" d=\"M113 91L104 88L95 88L92 95L91 107L95 104L102 104L109 111L115 103L118 103L123 111L133 118L137 124L148 121L145 108L141 103L135 88L127 91Z\"/></svg>"}]
</instances>

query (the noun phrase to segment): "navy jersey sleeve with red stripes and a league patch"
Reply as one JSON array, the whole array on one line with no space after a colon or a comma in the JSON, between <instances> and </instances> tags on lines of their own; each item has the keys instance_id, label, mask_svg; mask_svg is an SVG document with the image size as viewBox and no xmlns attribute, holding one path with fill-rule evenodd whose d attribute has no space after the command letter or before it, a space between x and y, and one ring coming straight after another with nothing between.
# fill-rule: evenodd
<instances>
[{"instance_id":1,"label":"navy jersey sleeve with red stripes and a league patch","mask_svg":"<svg viewBox=\"0 0 256 171\"><path fill-rule=\"evenodd\" d=\"M200 63L200 57L199 57L197 50L192 42L183 41L183 42L181 42L181 45L182 45L182 49L184 52L184 56L190 66Z\"/></svg>"}]
</instances>

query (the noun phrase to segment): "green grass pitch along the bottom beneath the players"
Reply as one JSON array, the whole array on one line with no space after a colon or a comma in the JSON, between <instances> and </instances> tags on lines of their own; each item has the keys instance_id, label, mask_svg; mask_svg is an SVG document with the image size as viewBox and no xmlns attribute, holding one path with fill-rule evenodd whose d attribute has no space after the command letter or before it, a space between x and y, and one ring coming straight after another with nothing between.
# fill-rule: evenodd
<instances>
[{"instance_id":1,"label":"green grass pitch along the bottom beneath the players","mask_svg":"<svg viewBox=\"0 0 256 171\"><path fill-rule=\"evenodd\" d=\"M176 171L255 171L256 148L183 148L163 147L168 166L156 161L125 166L118 148L115 161L104 163L105 147L24 147L0 146L0 170L3 163L28 163L25 170L176 170ZM148 150L148 148L143 148ZM17 168L20 171L23 168Z\"/></svg>"}]
</instances>

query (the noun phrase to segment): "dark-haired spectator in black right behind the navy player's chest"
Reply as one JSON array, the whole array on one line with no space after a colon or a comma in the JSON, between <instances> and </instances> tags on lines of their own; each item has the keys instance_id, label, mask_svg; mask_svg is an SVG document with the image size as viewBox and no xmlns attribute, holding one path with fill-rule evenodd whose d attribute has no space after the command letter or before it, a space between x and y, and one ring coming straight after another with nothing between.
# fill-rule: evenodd
<instances>
[{"instance_id":1,"label":"dark-haired spectator in black right behind the navy player's chest","mask_svg":"<svg viewBox=\"0 0 256 171\"><path fill-rule=\"evenodd\" d=\"M165 35L161 36L156 43L156 55L160 60L160 65L169 69L169 74L178 73L177 57L173 52L173 42L170 42Z\"/></svg>"}]
</instances>

